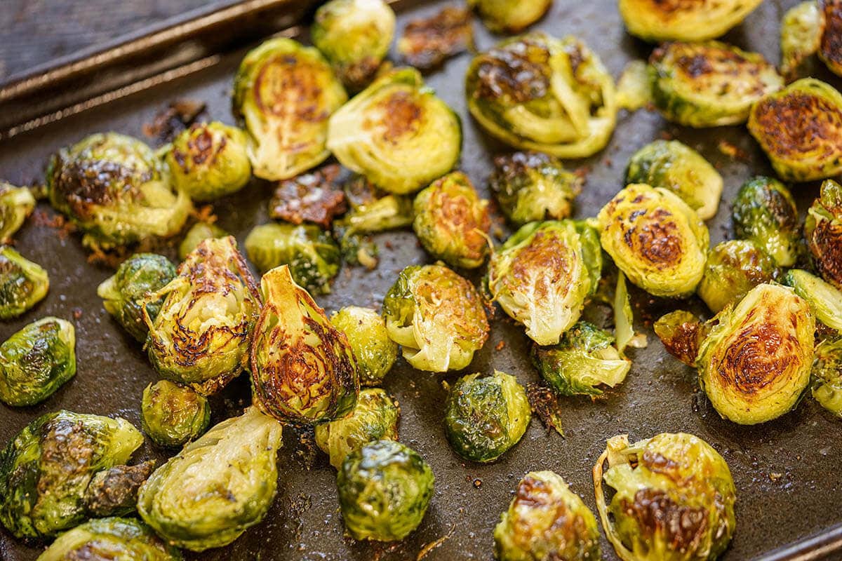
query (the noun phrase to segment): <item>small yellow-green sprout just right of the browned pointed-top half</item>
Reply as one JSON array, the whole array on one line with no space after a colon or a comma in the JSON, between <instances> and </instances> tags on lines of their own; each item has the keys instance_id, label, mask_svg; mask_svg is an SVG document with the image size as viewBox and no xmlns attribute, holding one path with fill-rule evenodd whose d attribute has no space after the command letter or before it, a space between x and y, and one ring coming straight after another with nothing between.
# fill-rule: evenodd
<instances>
[{"instance_id":1,"label":"small yellow-green sprout just right of the browned pointed-top half","mask_svg":"<svg viewBox=\"0 0 842 561\"><path fill-rule=\"evenodd\" d=\"M382 316L370 308L347 306L331 315L330 323L348 337L360 384L380 384L397 358L397 343L389 338Z\"/></svg>"}]
</instances>

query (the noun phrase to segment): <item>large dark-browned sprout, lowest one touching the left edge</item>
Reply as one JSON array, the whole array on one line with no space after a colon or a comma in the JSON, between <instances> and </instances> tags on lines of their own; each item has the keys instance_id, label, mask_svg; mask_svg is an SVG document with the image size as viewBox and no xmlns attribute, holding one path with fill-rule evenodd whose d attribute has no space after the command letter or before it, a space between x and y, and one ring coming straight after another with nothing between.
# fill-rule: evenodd
<instances>
[{"instance_id":1,"label":"large dark-browned sprout, lowest one touching the left edge","mask_svg":"<svg viewBox=\"0 0 842 561\"><path fill-rule=\"evenodd\" d=\"M41 415L0 453L0 522L15 537L52 537L77 526L93 474L125 463L142 443L124 419Z\"/></svg>"}]
</instances>

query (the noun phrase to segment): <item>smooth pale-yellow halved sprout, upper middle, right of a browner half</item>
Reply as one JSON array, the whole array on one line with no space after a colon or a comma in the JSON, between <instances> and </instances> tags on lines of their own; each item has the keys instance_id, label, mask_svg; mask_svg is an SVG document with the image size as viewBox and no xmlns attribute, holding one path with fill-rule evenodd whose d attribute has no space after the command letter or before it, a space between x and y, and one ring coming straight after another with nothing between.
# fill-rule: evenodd
<instances>
[{"instance_id":1,"label":"smooth pale-yellow halved sprout, upper middle, right of a browner half","mask_svg":"<svg viewBox=\"0 0 842 561\"><path fill-rule=\"evenodd\" d=\"M461 144L459 117L414 68L377 78L328 124L333 156L389 193L414 193L450 172Z\"/></svg>"}]
</instances>

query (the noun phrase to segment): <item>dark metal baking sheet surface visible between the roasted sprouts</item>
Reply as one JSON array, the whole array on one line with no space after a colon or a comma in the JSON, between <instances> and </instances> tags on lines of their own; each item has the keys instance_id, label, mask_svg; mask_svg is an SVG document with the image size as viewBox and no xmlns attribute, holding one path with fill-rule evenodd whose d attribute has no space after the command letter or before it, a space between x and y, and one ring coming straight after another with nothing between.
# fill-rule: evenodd
<instances>
[{"instance_id":1,"label":"dark metal baking sheet surface visible between the roasted sprouts","mask_svg":"<svg viewBox=\"0 0 842 561\"><path fill-rule=\"evenodd\" d=\"M757 50L778 60L778 21L796 0L767 0L743 25L727 34L726 40ZM445 3L408 2L399 9L398 29L408 19L427 15ZM299 3L299 7L301 4ZM495 38L479 24L477 44L486 49ZM552 12L536 25L552 34L577 34L599 53L610 71L619 76L626 61L647 56L650 47L623 30L614 0L588 3L557 0ZM242 34L252 43L258 34ZM173 50L178 46L170 47ZM13 183L39 182L47 156L83 135L117 130L142 136L142 125L173 98L195 98L208 103L213 119L232 122L230 90L232 75L244 50L222 54L204 70L152 87L142 93L119 98L99 108L75 114L0 142L0 176ZM463 99L463 75L470 56L450 61L442 71L429 76L429 84L461 114L465 141L461 158L464 169L482 193L493 154L506 150L489 140L469 118ZM816 66L815 75L842 87ZM3 112L0 105L0 112ZM621 114L610 146L571 167L589 168L588 182L578 198L577 215L594 215L622 185L623 168L633 151L662 136L684 141L712 161L725 178L725 193L719 213L708 224L711 239L727 237L729 201L747 177L769 173L770 167L749 135L740 127L716 130L687 130L663 121L657 114L640 111ZM717 148L725 141L737 146L747 160L724 156ZM818 192L815 184L794 189L803 211ZM215 205L220 224L242 241L248 230L267 221L268 183L253 181L237 195ZM51 215L43 204L39 212ZM0 325L5 339L25 323L44 315L59 315L77 325L78 373L70 383L44 404L12 409L0 405L0 442L6 442L35 416L67 408L103 415L122 415L139 425L138 407L142 389L155 373L131 337L109 318L95 294L109 270L89 264L78 237L63 237L44 220L29 220L17 236L25 256L40 262L50 272L51 290L44 302L28 314ZM383 241L390 241L385 246ZM327 310L347 304L379 306L383 294L402 267L429 262L411 232L381 236L382 260L373 272L345 268L333 285L333 293L318 300ZM418 531L403 542L368 544L343 537L338 511L335 473L326 458L291 429L285 430L285 447L279 455L278 496L266 519L228 548L189 559L245 561L252 559L326 561L368 561L370 559L415 559L426 544L447 537L425 557L429 561L451 561L493 557L492 530L511 498L511 491L525 472L552 469L567 479L573 490L594 507L590 469L605 445L605 439L630 433L633 439L651 437L660 431L689 431L717 447L730 465L738 489L737 532L726 561L744 561L789 542L821 534L811 542L815 553L783 553L775 559L817 558L818 546L833 542L839 532L829 528L842 521L842 425L816 405L804 400L794 412L762 426L746 427L722 421L695 384L695 373L669 357L648 329L649 320L682 303L653 299L633 292L637 325L649 336L649 347L632 350L632 372L620 388L605 399L563 400L562 419L566 437L547 431L534 420L522 442L497 463L466 463L450 451L442 426L442 404L447 376L421 373L399 360L386 378L386 389L402 405L401 439L427 458L436 476L435 495ZM691 301L696 310L703 306ZM77 317L74 316L77 315ZM498 343L504 347L495 350ZM467 372L491 372L494 368L515 374L521 382L536 381L527 357L527 339L509 320L493 321L492 335ZM237 412L248 401L248 380L241 377L214 400L214 421ZM302 443L302 441L304 443ZM165 456L147 444L137 459ZM43 546L17 542L0 532L0 559L29 561ZM616 559L604 542L605 559ZM803 549L803 548L802 548ZM801 551L801 553L799 553ZM830 553L827 558L839 558Z\"/></svg>"}]
</instances>

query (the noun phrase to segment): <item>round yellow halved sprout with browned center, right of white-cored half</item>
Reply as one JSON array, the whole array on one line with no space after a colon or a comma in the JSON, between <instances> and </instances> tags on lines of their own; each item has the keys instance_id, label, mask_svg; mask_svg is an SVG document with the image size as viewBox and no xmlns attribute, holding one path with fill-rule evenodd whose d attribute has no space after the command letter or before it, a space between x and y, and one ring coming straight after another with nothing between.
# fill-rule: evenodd
<instances>
[{"instance_id":1,"label":"round yellow halved sprout with browned center, right of white-cored half","mask_svg":"<svg viewBox=\"0 0 842 561\"><path fill-rule=\"evenodd\" d=\"M705 273L705 223L678 195L633 183L601 210L600 241L617 267L649 294L692 294Z\"/></svg>"}]
</instances>

